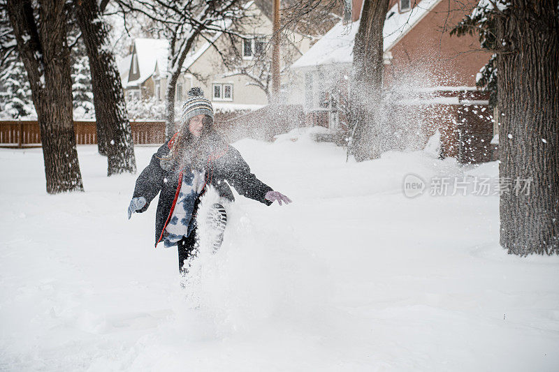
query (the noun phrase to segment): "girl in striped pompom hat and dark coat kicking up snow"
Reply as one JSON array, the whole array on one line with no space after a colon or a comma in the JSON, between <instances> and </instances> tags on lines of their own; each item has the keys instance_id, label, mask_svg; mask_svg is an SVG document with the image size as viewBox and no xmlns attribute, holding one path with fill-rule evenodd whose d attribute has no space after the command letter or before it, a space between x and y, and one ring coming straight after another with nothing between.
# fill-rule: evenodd
<instances>
[{"instance_id":1,"label":"girl in striped pompom hat and dark coat kicking up snow","mask_svg":"<svg viewBox=\"0 0 559 372\"><path fill-rule=\"evenodd\" d=\"M214 186L220 197L229 201L234 198L228 184L240 195L266 205L275 200L279 205L291 202L257 179L239 151L217 135L213 128L212 103L203 97L201 89L192 88L188 95L182 106L179 131L159 147L150 165L140 173L128 207L130 218L134 212L145 211L161 192L155 216L155 246L164 241L166 247L178 247L181 273L184 260L194 252L196 211L209 186ZM216 229L213 248L217 249L227 221L222 204L213 204L210 218L215 221L212 224Z\"/></svg>"}]
</instances>

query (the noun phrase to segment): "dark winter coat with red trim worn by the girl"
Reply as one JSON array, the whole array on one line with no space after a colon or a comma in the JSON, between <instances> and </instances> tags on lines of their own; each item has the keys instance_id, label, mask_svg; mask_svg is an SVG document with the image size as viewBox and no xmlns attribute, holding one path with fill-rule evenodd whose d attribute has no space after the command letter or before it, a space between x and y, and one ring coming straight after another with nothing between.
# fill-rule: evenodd
<instances>
[{"instance_id":1,"label":"dark winter coat with red trim worn by the girl","mask_svg":"<svg viewBox=\"0 0 559 372\"><path fill-rule=\"evenodd\" d=\"M179 181L182 180L184 172L183 170L164 170L164 168L161 168L160 159L166 156L169 151L169 142L159 147L152 156L150 165L147 165L136 180L136 188L134 188L133 194L133 198L143 196L147 201L145 206L138 210L138 212L143 212L150 206L150 202L155 196L161 192L155 216L155 246L161 241L169 218L173 214L177 195L180 191ZM264 184L250 172L249 165L237 149L229 145L225 150L217 152L219 154L212 154L208 159L208 166L205 170L207 184L215 186L222 197L231 201L234 200L233 193L227 184L233 186L240 195L266 205L272 204L264 198L264 195L268 191L272 191L273 188ZM207 187L206 185L205 188Z\"/></svg>"}]
</instances>

